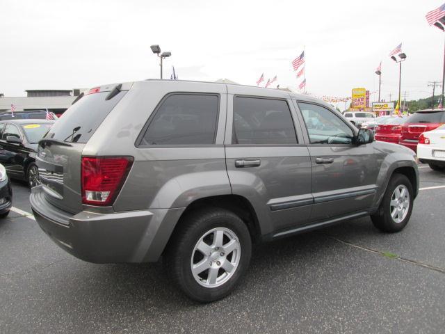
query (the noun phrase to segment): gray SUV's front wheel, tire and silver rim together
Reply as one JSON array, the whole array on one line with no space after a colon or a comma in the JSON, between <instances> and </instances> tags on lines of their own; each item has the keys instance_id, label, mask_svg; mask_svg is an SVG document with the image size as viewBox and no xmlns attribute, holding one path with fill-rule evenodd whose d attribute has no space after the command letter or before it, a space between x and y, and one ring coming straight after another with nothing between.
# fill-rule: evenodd
<instances>
[{"instance_id":1,"label":"gray SUV's front wheel, tire and silver rim together","mask_svg":"<svg viewBox=\"0 0 445 334\"><path fill-rule=\"evenodd\" d=\"M382 232L403 230L410 220L413 202L410 180L402 174L392 175L378 211L371 215L374 226Z\"/></svg>"}]
</instances>

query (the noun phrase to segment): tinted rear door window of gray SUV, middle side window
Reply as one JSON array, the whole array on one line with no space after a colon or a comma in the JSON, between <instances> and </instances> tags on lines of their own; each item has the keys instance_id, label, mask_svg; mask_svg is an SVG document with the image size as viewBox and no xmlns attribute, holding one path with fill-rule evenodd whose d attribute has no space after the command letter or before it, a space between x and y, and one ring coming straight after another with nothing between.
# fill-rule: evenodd
<instances>
[{"instance_id":1,"label":"tinted rear door window of gray SUV, middle side window","mask_svg":"<svg viewBox=\"0 0 445 334\"><path fill-rule=\"evenodd\" d=\"M286 101L234 97L234 144L296 144Z\"/></svg>"}]
</instances>

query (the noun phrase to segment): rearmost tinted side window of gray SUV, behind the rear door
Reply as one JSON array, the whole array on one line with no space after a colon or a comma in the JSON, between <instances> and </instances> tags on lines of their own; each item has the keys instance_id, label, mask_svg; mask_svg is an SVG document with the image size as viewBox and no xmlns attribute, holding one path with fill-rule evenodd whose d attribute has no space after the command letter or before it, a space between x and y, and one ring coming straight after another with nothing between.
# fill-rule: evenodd
<instances>
[{"instance_id":1,"label":"rearmost tinted side window of gray SUV, behind the rear door","mask_svg":"<svg viewBox=\"0 0 445 334\"><path fill-rule=\"evenodd\" d=\"M218 95L174 94L161 104L140 145L213 144Z\"/></svg>"}]
</instances>

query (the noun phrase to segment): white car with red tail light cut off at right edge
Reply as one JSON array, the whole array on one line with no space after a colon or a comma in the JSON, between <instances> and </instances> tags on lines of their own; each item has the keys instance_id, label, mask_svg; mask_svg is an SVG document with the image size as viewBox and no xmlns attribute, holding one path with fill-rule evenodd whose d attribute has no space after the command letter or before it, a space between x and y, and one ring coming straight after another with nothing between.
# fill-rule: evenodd
<instances>
[{"instance_id":1,"label":"white car with red tail light cut off at right edge","mask_svg":"<svg viewBox=\"0 0 445 334\"><path fill-rule=\"evenodd\" d=\"M417 157L433 170L445 170L445 124L419 136Z\"/></svg>"}]
</instances>

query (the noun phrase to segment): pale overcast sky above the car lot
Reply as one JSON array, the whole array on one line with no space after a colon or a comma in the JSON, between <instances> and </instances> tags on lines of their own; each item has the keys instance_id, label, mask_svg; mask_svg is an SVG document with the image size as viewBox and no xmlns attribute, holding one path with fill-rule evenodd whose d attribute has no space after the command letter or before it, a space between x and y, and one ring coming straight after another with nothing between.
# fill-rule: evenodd
<instances>
[{"instance_id":1,"label":"pale overcast sky above the car lot","mask_svg":"<svg viewBox=\"0 0 445 334\"><path fill-rule=\"evenodd\" d=\"M291 61L305 47L307 91L337 97L377 90L382 61L388 99L398 92L388 54L402 42L402 90L407 100L427 97L428 81L442 80L444 34L425 14L442 1L3 0L0 93L157 78L149 46L159 44L172 52L165 77L175 65L179 79L254 85L264 72L293 90Z\"/></svg>"}]
</instances>

